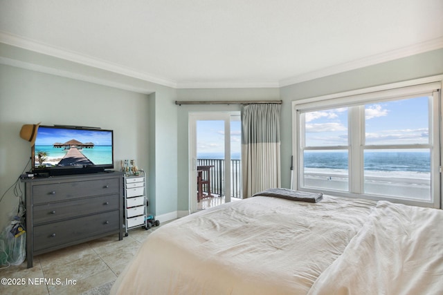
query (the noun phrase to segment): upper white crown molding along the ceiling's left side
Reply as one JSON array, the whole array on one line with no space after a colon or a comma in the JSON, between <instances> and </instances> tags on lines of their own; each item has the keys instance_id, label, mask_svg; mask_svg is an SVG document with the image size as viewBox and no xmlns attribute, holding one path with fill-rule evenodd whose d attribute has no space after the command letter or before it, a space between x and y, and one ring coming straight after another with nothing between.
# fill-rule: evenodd
<instances>
[{"instance_id":1,"label":"upper white crown molding along the ceiling's left side","mask_svg":"<svg viewBox=\"0 0 443 295\"><path fill-rule=\"evenodd\" d=\"M112 64L111 62L102 61L100 59L89 57L87 55L80 55L78 53L73 53L70 52L69 50L64 50L61 48L56 48L55 46L42 44L38 41L26 39L23 37L19 37L17 35L11 35L7 32L0 31L0 42L8 44L10 46L31 50L36 53L42 53L44 55L49 55L60 59L66 59L68 61L73 61L78 64L84 64L86 66L100 68L102 70L107 70L112 73L117 73L120 75L133 77L136 79L141 79L146 82L152 82L163 86L177 88L177 83L168 79L155 77L154 75L150 75L147 73L141 73L139 71L133 70L131 68L126 68L118 64Z\"/></svg>"}]
</instances>

